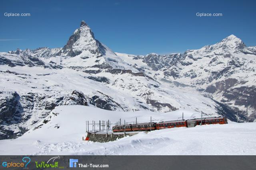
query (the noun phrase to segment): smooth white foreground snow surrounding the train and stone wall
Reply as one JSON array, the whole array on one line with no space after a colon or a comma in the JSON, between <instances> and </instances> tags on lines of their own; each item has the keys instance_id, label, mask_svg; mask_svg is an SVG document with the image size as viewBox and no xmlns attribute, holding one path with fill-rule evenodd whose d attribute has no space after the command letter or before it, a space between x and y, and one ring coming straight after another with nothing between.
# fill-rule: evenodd
<instances>
[{"instance_id":1,"label":"smooth white foreground snow surrounding the train and stone wall","mask_svg":"<svg viewBox=\"0 0 256 170\"><path fill-rule=\"evenodd\" d=\"M200 117L200 113L178 110L168 113L107 111L87 106L60 106L52 111L50 121L22 137L0 141L2 155L256 155L256 122L203 125L141 132L108 143L82 141L85 121L119 118L128 122ZM54 114L53 114L54 113ZM57 115L56 115L57 113ZM57 128L59 127L59 128ZM92 129L90 125L90 130Z\"/></svg>"}]
</instances>

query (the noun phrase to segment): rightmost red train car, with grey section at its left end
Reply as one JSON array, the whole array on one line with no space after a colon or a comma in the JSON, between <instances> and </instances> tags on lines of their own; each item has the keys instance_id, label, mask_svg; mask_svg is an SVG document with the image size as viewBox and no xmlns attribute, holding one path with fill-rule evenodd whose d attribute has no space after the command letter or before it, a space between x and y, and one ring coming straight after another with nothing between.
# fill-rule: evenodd
<instances>
[{"instance_id":1,"label":"rightmost red train car, with grey section at its left end","mask_svg":"<svg viewBox=\"0 0 256 170\"><path fill-rule=\"evenodd\" d=\"M226 124L228 123L226 117L203 117L198 119L187 120L188 127L194 127L196 125L210 125L210 124Z\"/></svg>"}]
</instances>

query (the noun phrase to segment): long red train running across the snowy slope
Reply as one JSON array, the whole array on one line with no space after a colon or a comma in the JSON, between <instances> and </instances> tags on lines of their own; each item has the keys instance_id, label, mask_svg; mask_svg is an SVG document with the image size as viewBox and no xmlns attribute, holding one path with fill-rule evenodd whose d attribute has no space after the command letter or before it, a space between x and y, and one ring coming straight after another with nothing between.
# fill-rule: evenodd
<instances>
[{"instance_id":1,"label":"long red train running across the snowy slope","mask_svg":"<svg viewBox=\"0 0 256 170\"><path fill-rule=\"evenodd\" d=\"M129 131L150 131L167 129L173 127L195 127L196 125L209 125L209 124L226 124L228 123L225 117L204 117L198 119L188 119L188 120L174 120L174 121L162 121L162 122L152 122L152 123L137 123L137 124L127 124L127 125L116 125L112 127L113 132L126 132Z\"/></svg>"}]
</instances>

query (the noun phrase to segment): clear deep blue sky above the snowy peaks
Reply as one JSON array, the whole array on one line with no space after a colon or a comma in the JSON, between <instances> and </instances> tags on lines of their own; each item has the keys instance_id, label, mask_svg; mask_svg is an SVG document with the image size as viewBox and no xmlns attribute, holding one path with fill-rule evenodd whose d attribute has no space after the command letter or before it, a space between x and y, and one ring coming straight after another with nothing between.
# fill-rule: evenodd
<instances>
[{"instance_id":1,"label":"clear deep blue sky above the snowy peaks","mask_svg":"<svg viewBox=\"0 0 256 170\"><path fill-rule=\"evenodd\" d=\"M231 34L250 46L256 45L255 9L254 0L2 0L0 51L63 47L81 20L121 53L183 53ZM197 12L223 16L200 18Z\"/></svg>"}]
</instances>

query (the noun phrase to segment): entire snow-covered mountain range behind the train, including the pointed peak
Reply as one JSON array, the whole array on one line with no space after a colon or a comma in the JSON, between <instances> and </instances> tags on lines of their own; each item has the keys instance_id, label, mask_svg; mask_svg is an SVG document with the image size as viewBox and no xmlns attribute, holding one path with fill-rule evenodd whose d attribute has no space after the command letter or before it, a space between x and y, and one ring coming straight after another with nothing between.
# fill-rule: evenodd
<instances>
[{"instance_id":1,"label":"entire snow-covered mountain range behind the train, including the pointed peak","mask_svg":"<svg viewBox=\"0 0 256 170\"><path fill-rule=\"evenodd\" d=\"M234 35L184 54L114 53L82 21L63 48L0 53L0 139L21 136L56 106L255 117L256 48ZM212 100L213 99L213 100ZM136 112L135 112L136 113ZM240 113L240 121L245 115Z\"/></svg>"}]
</instances>

